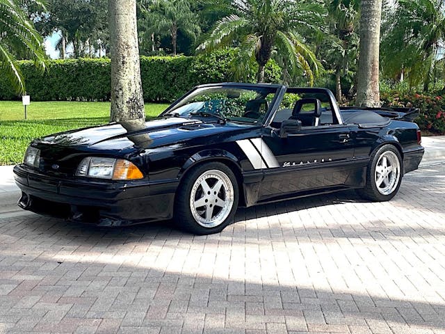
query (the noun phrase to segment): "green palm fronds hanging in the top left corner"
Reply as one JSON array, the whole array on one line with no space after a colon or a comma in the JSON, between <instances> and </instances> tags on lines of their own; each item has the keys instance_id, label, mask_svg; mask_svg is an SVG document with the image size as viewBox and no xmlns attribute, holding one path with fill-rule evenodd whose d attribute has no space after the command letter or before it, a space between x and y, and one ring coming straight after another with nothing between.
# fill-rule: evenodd
<instances>
[{"instance_id":1,"label":"green palm fronds hanging in the top left corner","mask_svg":"<svg viewBox=\"0 0 445 334\"><path fill-rule=\"evenodd\" d=\"M34 1L44 8L42 1ZM46 68L43 40L21 7L19 0L0 0L0 71L13 84L17 93L24 93L22 72L17 54L32 59L36 66Z\"/></svg>"}]
</instances>

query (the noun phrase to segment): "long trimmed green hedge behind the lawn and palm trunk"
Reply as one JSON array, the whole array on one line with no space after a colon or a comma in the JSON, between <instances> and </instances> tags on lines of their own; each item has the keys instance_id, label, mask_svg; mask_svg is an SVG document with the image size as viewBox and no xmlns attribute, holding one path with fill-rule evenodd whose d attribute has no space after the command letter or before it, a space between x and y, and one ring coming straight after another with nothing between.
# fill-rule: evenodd
<instances>
[{"instance_id":1,"label":"long trimmed green hedge behind the lawn and palm trunk","mask_svg":"<svg viewBox=\"0 0 445 334\"><path fill-rule=\"evenodd\" d=\"M171 102L199 84L234 81L230 61L234 51L209 55L154 56L140 58L141 79L146 102ZM81 58L49 61L43 74L31 61L20 61L27 93L33 101L106 101L110 99L110 59ZM254 80L254 67L246 80ZM266 79L277 82L280 67L270 62ZM0 77L0 100L17 100L17 93Z\"/></svg>"}]
</instances>

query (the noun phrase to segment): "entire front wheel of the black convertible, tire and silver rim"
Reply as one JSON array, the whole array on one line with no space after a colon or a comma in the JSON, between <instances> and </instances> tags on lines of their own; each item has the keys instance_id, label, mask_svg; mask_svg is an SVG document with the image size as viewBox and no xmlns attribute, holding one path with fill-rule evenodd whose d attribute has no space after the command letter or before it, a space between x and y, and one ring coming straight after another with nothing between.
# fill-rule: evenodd
<instances>
[{"instance_id":1,"label":"entire front wheel of the black convertible, tire and silver rim","mask_svg":"<svg viewBox=\"0 0 445 334\"><path fill-rule=\"evenodd\" d=\"M202 164L184 176L175 201L175 222L194 234L222 231L238 207L238 182L220 162Z\"/></svg>"}]
</instances>

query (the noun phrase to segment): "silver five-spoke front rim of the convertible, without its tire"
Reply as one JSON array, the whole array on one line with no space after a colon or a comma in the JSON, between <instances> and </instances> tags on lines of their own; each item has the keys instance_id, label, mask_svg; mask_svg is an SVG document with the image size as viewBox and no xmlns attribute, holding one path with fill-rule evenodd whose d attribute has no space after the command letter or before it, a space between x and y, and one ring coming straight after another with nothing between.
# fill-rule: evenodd
<instances>
[{"instance_id":1,"label":"silver five-spoke front rim of the convertible, without its tire","mask_svg":"<svg viewBox=\"0 0 445 334\"><path fill-rule=\"evenodd\" d=\"M234 186L221 170L207 170L193 184L190 209L195 221L214 228L225 221L234 205Z\"/></svg>"}]
</instances>

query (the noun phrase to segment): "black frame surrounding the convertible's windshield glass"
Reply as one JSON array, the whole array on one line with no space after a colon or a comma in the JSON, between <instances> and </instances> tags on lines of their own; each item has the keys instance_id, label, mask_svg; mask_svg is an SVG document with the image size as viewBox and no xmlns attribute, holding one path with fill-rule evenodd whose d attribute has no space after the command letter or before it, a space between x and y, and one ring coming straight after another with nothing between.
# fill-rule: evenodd
<instances>
[{"instance_id":1,"label":"black frame surrounding the convertible's windshield glass","mask_svg":"<svg viewBox=\"0 0 445 334\"><path fill-rule=\"evenodd\" d=\"M282 93L282 90L285 90L286 87L278 84L239 84L239 83L221 83L221 84L207 84L207 85L200 85L196 86L192 90L188 91L188 93L184 94L183 96L179 97L178 100L173 102L170 106L168 106L165 111L163 111L161 114L159 114L159 117L168 116L170 111L173 111L173 109L176 109L177 105L180 104L184 99L189 97L190 95L193 95L196 90L202 90L202 88L237 88L237 89L245 89L245 90L254 90L254 88L268 88L271 91L270 94L273 94L273 99L269 104L268 110L264 114L263 118L260 118L256 121L248 122L243 120L232 120L228 119L228 122L239 122L243 124L254 124L254 125L262 125L264 126L266 124L265 120L268 120L270 113L273 112L277 108L277 101L281 100L280 93ZM174 112L173 112L174 114ZM181 117L181 116L179 116ZM189 117L189 116L186 116Z\"/></svg>"}]
</instances>

